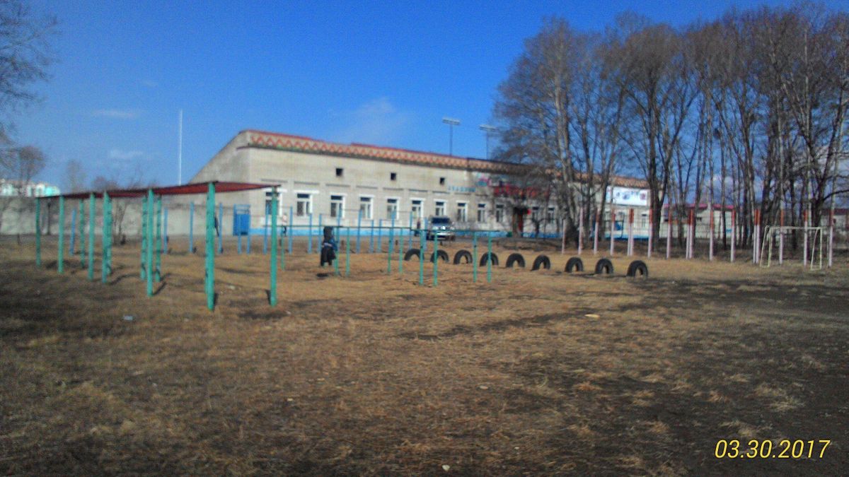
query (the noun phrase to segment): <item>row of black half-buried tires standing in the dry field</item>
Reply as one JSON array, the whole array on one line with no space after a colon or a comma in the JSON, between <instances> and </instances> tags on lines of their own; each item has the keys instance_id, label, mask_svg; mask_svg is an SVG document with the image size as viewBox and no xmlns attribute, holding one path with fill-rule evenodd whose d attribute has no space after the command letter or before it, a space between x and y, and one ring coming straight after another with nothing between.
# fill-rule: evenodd
<instances>
[{"instance_id":1,"label":"row of black half-buried tires standing in the dry field","mask_svg":"<svg viewBox=\"0 0 849 477\"><path fill-rule=\"evenodd\" d=\"M419 259L421 252L419 249L410 249L407 250L407 254L404 255L404 260L409 261L412 260L413 257ZM435 253L430 254L430 261L444 261L448 262L449 256L445 250L437 250ZM472 262L472 254L469 253L469 250L458 250L456 254L454 254L454 265L460 264L468 264ZM481 267L486 266L487 262L492 261L492 265L498 267L498 255L487 252L481 255L481 261L479 265ZM508 255L507 261L504 263L505 268L513 268L513 267L522 267L525 268L525 257L521 254L512 253ZM551 269L551 260L546 255L537 255L537 258L534 259L533 265L531 266L531 270L539 270L543 268L545 270ZM573 256L566 261L565 272L583 272L584 266L583 261L580 257ZM599 275L610 275L613 273L613 262L609 259L602 258L599 259L595 263L595 272ZM628 277L648 277L649 276L649 267L646 266L644 261L635 260L632 261L630 265L628 265L627 270Z\"/></svg>"}]
</instances>

